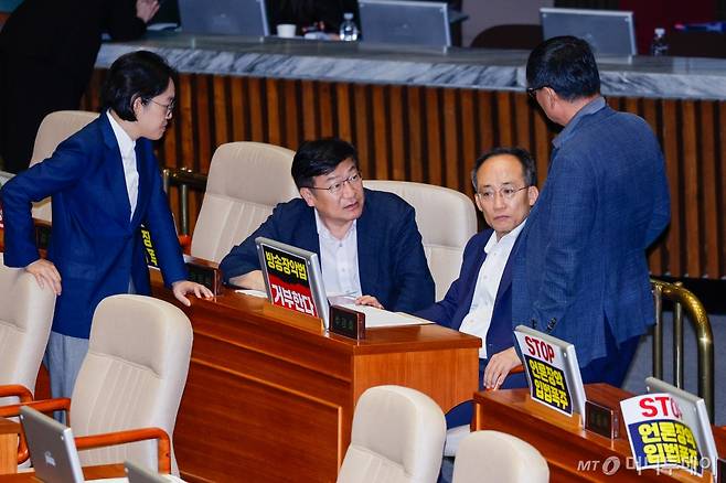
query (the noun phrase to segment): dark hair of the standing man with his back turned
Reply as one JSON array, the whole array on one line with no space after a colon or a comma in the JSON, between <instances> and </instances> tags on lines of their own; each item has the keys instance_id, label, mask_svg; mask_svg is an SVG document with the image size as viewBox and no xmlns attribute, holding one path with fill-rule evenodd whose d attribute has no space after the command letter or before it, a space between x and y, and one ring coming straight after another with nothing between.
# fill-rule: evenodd
<instances>
[{"instance_id":1,"label":"dark hair of the standing man with his back turned","mask_svg":"<svg viewBox=\"0 0 726 483\"><path fill-rule=\"evenodd\" d=\"M575 36L555 36L534 47L526 77L527 87L549 87L565 100L600 93L600 74L590 45Z\"/></svg>"}]
</instances>

